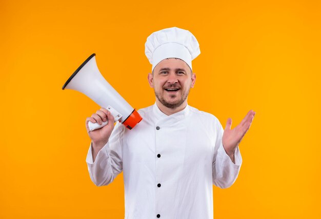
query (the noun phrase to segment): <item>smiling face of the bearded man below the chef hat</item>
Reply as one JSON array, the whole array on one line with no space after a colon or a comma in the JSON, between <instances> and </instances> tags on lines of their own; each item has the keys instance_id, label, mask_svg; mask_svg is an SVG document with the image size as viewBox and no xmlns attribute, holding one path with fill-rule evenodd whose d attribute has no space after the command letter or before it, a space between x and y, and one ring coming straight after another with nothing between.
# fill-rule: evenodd
<instances>
[{"instance_id":1,"label":"smiling face of the bearded man below the chef hat","mask_svg":"<svg viewBox=\"0 0 321 219\"><path fill-rule=\"evenodd\" d=\"M195 80L196 75L178 58L164 59L155 66L153 74L148 74L148 82L154 88L156 98L171 109L187 103L187 96Z\"/></svg>"}]
</instances>

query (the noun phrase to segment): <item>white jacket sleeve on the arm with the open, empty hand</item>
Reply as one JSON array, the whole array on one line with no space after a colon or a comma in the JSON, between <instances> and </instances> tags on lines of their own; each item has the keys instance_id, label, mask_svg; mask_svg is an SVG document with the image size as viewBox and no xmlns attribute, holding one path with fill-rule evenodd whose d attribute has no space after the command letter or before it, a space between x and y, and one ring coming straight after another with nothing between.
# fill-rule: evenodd
<instances>
[{"instance_id":1,"label":"white jacket sleeve on the arm with the open, empty hand","mask_svg":"<svg viewBox=\"0 0 321 219\"><path fill-rule=\"evenodd\" d=\"M228 188L233 185L238 176L240 166L242 164L242 156L240 155L237 147L234 153L234 164L223 147L222 137L224 129L218 120L216 123L216 130L217 135L212 164L213 184L219 188Z\"/></svg>"}]
</instances>

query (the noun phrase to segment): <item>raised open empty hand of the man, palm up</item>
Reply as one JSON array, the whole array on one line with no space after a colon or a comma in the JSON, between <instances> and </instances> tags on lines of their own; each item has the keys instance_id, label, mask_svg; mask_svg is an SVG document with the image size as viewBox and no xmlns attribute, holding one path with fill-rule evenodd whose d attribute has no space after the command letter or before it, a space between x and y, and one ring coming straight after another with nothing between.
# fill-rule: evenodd
<instances>
[{"instance_id":1,"label":"raised open empty hand of the man, palm up","mask_svg":"<svg viewBox=\"0 0 321 219\"><path fill-rule=\"evenodd\" d=\"M231 129L232 126L232 118L228 118L226 122L226 127L222 137L223 147L226 153L231 157L234 162L234 151L242 141L244 135L249 130L255 112L250 110L247 115L243 118L242 122L238 124L234 129Z\"/></svg>"}]
</instances>

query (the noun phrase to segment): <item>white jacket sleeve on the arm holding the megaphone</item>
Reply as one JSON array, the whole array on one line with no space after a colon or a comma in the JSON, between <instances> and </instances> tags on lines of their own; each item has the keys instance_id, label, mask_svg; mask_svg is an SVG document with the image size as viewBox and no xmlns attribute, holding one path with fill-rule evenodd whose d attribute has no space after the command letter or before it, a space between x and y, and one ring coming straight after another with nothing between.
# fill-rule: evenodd
<instances>
[{"instance_id":1,"label":"white jacket sleeve on the arm holding the megaphone","mask_svg":"<svg viewBox=\"0 0 321 219\"><path fill-rule=\"evenodd\" d=\"M123 171L123 133L124 126L117 122L107 144L98 152L95 162L92 157L92 143L90 144L86 162L91 181L96 186L105 186Z\"/></svg>"}]
</instances>

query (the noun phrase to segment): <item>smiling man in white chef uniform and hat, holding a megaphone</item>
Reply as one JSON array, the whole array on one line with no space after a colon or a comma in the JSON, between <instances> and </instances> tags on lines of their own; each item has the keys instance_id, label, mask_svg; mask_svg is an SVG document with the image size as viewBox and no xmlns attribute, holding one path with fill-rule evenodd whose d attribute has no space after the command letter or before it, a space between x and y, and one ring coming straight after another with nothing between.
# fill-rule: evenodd
<instances>
[{"instance_id":1,"label":"smiling man in white chef uniform and hat, holding a megaphone","mask_svg":"<svg viewBox=\"0 0 321 219\"><path fill-rule=\"evenodd\" d=\"M232 130L229 118L223 130L214 115L187 104L196 80L191 61L200 53L189 31L154 32L145 47L156 102L138 110L143 120L132 130L114 127L104 108L87 118L91 180L108 185L124 171L125 218L213 218L212 185L227 188L236 180L242 164L238 144L255 112ZM107 120L101 129L88 128L89 121Z\"/></svg>"}]
</instances>

